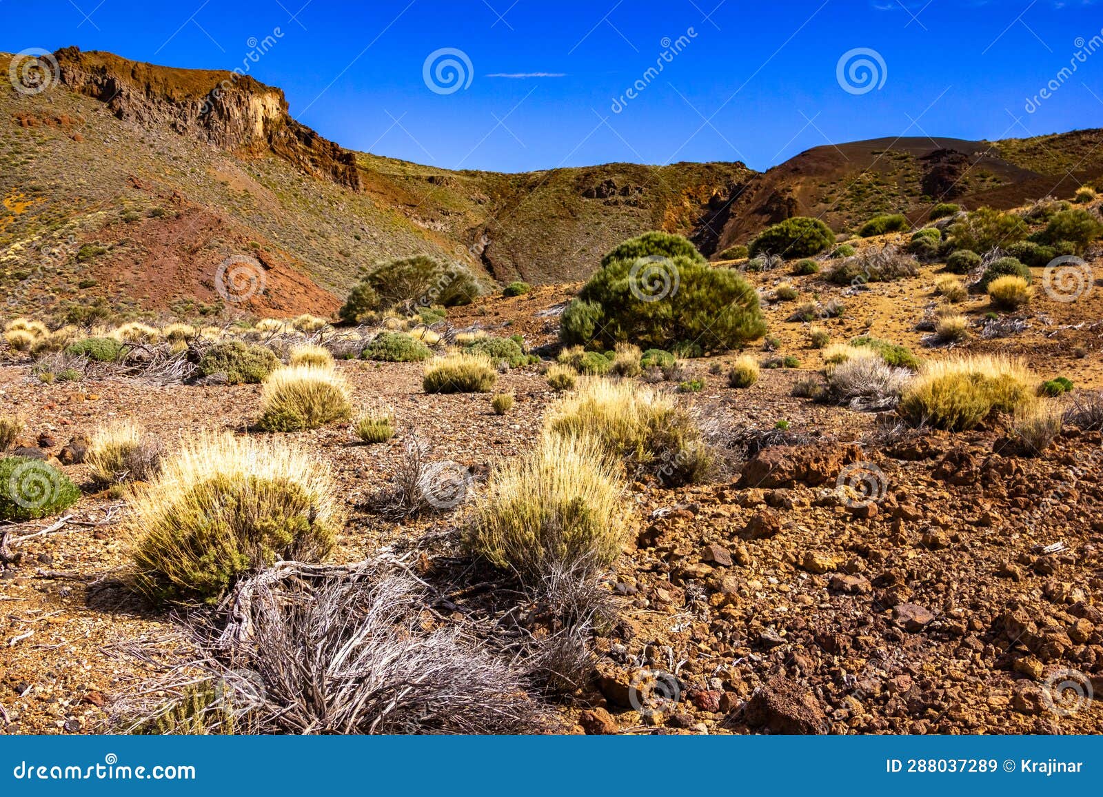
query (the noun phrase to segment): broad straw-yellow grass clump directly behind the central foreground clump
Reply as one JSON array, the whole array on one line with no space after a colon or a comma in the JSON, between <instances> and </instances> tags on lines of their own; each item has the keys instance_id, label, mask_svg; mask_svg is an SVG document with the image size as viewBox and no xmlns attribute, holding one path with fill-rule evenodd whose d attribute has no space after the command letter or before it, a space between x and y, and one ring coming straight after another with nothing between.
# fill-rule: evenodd
<instances>
[{"instance_id":1,"label":"broad straw-yellow grass clump directly behind the central foreground clump","mask_svg":"<svg viewBox=\"0 0 1103 797\"><path fill-rule=\"evenodd\" d=\"M632 382L588 380L553 404L548 433L592 439L674 485L705 480L713 460L700 429L670 396Z\"/></svg>"}]
</instances>

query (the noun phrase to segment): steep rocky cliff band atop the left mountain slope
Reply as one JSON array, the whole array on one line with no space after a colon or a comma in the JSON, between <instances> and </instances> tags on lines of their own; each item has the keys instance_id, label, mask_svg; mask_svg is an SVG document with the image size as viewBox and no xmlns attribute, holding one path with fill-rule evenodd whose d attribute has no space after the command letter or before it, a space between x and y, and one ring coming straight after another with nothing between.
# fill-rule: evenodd
<instances>
[{"instance_id":1,"label":"steep rocky cliff band atop the left mountain slope","mask_svg":"<svg viewBox=\"0 0 1103 797\"><path fill-rule=\"evenodd\" d=\"M171 127L236 155L270 151L309 174L361 188L354 155L291 118L283 92L248 75L175 70L77 47L54 55L63 85L105 103L120 119Z\"/></svg>"}]
</instances>

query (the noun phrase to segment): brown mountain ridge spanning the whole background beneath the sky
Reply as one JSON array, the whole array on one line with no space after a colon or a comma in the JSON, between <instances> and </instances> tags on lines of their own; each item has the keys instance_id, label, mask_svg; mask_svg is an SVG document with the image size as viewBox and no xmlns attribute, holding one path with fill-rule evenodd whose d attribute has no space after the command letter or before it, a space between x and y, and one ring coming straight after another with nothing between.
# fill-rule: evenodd
<instances>
[{"instance_id":1,"label":"brown mountain ridge spanning the whole background beneath the sky","mask_svg":"<svg viewBox=\"0 0 1103 797\"><path fill-rule=\"evenodd\" d=\"M572 281L651 229L711 254L794 214L838 231L886 211L920 221L939 199L1010 206L1103 173L1100 130L859 141L762 174L726 162L450 171L345 150L248 76L75 47L55 59L51 89L0 93L12 312L326 314L387 257L458 259L488 284ZM233 257L255 258L266 289L227 306L216 272Z\"/></svg>"}]
</instances>

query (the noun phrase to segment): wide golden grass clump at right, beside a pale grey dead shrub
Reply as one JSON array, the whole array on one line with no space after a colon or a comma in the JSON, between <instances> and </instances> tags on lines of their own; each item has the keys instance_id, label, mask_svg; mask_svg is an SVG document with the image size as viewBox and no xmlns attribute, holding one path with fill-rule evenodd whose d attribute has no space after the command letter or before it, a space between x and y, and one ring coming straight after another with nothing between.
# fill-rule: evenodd
<instances>
[{"instance_id":1,"label":"wide golden grass clump at right, beside a pale grey dead shrub","mask_svg":"<svg viewBox=\"0 0 1103 797\"><path fill-rule=\"evenodd\" d=\"M1036 382L1020 360L1006 357L927 362L904 390L900 412L912 423L970 429L993 412L1026 408L1035 401Z\"/></svg>"}]
</instances>

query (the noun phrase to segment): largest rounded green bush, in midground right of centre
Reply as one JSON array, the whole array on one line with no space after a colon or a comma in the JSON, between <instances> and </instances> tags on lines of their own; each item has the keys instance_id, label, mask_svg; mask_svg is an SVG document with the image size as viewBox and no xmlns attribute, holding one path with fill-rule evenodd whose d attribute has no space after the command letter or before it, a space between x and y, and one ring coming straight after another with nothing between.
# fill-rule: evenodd
<instances>
[{"instance_id":1,"label":"largest rounded green bush, in midground right of centre","mask_svg":"<svg viewBox=\"0 0 1103 797\"><path fill-rule=\"evenodd\" d=\"M563 314L565 343L720 351L765 333L758 294L736 272L677 255L656 263L666 273L651 284L638 263L612 261L590 278Z\"/></svg>"}]
</instances>

